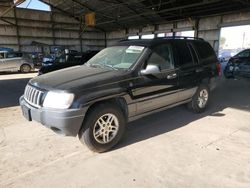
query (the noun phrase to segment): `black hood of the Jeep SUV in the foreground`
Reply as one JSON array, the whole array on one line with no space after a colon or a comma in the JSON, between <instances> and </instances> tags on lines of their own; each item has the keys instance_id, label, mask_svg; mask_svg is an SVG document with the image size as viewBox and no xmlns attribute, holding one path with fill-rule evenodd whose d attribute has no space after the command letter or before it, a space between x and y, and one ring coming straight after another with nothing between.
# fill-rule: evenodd
<instances>
[{"instance_id":1,"label":"black hood of the Jeep SUV in the foreground","mask_svg":"<svg viewBox=\"0 0 250 188\"><path fill-rule=\"evenodd\" d=\"M37 76L30 80L30 84L45 90L90 89L120 80L124 73L82 65Z\"/></svg>"}]
</instances>

